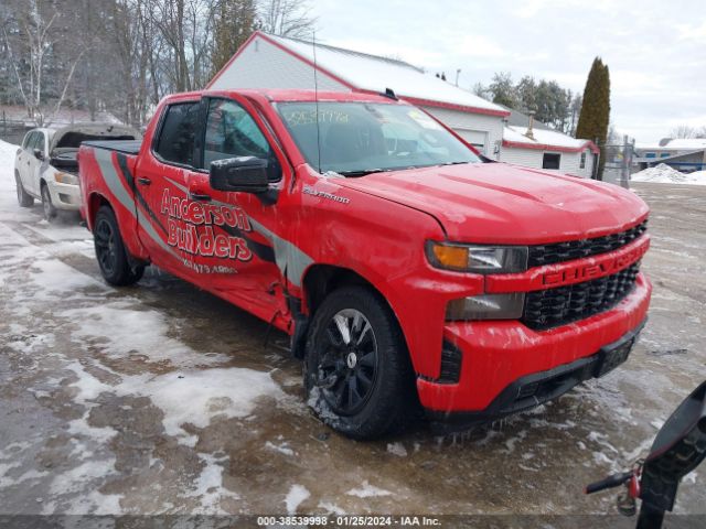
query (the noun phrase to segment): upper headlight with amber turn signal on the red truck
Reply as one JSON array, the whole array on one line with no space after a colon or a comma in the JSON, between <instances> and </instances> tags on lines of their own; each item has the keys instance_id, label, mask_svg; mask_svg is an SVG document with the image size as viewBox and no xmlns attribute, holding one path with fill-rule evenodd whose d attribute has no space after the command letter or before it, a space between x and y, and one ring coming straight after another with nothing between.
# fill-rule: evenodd
<instances>
[{"instance_id":1,"label":"upper headlight with amber turn signal on the red truck","mask_svg":"<svg viewBox=\"0 0 706 529\"><path fill-rule=\"evenodd\" d=\"M427 259L446 270L474 273L513 273L527 270L526 246L471 246L427 241Z\"/></svg>"}]
</instances>

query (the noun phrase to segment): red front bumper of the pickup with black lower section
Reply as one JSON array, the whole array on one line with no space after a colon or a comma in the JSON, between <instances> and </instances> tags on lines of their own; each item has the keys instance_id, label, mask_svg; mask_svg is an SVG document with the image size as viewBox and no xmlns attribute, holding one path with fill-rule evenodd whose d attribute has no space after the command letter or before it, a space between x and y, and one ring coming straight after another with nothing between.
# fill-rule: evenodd
<instances>
[{"instance_id":1,"label":"red front bumper of the pickup with black lower section","mask_svg":"<svg viewBox=\"0 0 706 529\"><path fill-rule=\"evenodd\" d=\"M609 365L605 359L609 350L627 341L630 352L646 317L651 292L650 282L640 273L634 290L613 309L544 332L517 321L449 323L445 339L461 353L458 382L418 378L421 404L437 420L462 413L477 419L471 422L484 422L537 406L601 376L607 373L602 367ZM528 393L528 386L535 382L539 396Z\"/></svg>"}]
</instances>

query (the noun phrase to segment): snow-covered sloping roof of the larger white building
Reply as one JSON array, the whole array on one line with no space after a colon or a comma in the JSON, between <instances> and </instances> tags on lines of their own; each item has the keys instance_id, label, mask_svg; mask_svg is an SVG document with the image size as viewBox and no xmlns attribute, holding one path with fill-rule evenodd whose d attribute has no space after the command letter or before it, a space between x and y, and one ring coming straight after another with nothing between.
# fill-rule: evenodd
<instances>
[{"instance_id":1,"label":"snow-covered sloping roof of the larger white building","mask_svg":"<svg viewBox=\"0 0 706 529\"><path fill-rule=\"evenodd\" d=\"M263 34L297 55L313 62L313 44L297 39L285 39ZM317 66L330 72L354 88L384 93L392 88L400 97L422 99L429 102L442 102L460 107L469 107L498 112L505 116L507 111L482 97L441 80L425 73L421 68L394 58L368 55L351 50L343 50L317 43Z\"/></svg>"}]
</instances>

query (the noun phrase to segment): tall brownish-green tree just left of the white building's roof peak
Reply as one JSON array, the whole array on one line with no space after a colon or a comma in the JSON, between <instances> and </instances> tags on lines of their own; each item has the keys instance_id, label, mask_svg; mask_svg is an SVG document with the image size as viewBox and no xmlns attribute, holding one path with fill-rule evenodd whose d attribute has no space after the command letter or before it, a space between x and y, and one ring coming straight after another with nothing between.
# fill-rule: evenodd
<instances>
[{"instance_id":1,"label":"tall brownish-green tree just left of the white building's roof peak","mask_svg":"<svg viewBox=\"0 0 706 529\"><path fill-rule=\"evenodd\" d=\"M222 0L215 13L212 75L217 74L256 30L254 0Z\"/></svg>"}]
</instances>

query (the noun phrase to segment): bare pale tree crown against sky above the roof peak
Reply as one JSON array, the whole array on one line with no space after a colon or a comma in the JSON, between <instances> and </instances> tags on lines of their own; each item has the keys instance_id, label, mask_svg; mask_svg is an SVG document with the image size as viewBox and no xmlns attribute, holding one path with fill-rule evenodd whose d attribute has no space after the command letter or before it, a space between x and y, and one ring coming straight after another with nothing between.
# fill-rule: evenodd
<instances>
[{"instance_id":1,"label":"bare pale tree crown against sky above the roof peak","mask_svg":"<svg viewBox=\"0 0 706 529\"><path fill-rule=\"evenodd\" d=\"M317 24L309 0L261 0L258 21L266 33L290 37L310 37Z\"/></svg>"}]
</instances>

